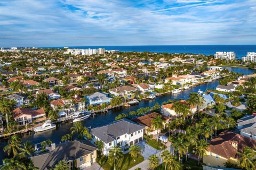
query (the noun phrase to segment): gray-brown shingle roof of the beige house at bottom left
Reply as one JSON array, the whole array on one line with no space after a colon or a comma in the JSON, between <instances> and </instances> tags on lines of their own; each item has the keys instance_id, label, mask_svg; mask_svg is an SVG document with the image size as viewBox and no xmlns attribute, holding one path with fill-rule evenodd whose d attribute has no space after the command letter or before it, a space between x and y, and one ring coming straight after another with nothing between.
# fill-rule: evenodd
<instances>
[{"instance_id":1,"label":"gray-brown shingle roof of the beige house at bottom left","mask_svg":"<svg viewBox=\"0 0 256 170\"><path fill-rule=\"evenodd\" d=\"M74 140L56 145L54 150L33 156L31 159L34 161L34 166L44 170L53 168L60 160L64 160L65 162L75 160L91 154L91 152L97 149L89 141Z\"/></svg>"}]
</instances>

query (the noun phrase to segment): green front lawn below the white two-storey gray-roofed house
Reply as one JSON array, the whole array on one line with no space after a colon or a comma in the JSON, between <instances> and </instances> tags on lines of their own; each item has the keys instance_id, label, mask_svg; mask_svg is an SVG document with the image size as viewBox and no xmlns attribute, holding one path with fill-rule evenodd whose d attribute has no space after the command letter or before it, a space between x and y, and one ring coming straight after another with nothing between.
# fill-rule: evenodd
<instances>
[{"instance_id":1,"label":"green front lawn below the white two-storey gray-roofed house","mask_svg":"<svg viewBox=\"0 0 256 170\"><path fill-rule=\"evenodd\" d=\"M141 163L144 160L144 158L140 155L138 156L137 159L135 159L135 163L133 160L134 158L132 158L129 153L125 154L124 157L117 163L116 169L117 170L130 169L131 167ZM105 165L102 166L102 168L105 170L113 170L114 162L110 162L110 160L108 159Z\"/></svg>"}]
</instances>

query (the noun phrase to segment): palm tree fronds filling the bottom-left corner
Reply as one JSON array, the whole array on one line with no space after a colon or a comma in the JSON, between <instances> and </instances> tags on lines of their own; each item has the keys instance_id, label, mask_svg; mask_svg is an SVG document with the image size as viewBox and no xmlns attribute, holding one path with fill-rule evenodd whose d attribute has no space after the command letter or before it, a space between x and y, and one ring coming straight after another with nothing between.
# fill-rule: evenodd
<instances>
[{"instance_id":1,"label":"palm tree fronds filling the bottom-left corner","mask_svg":"<svg viewBox=\"0 0 256 170\"><path fill-rule=\"evenodd\" d=\"M21 161L22 157L24 157L23 154L17 154L10 159L3 159L4 165L1 167L1 169L2 170L11 170L11 169L27 170L25 163Z\"/></svg>"}]
</instances>

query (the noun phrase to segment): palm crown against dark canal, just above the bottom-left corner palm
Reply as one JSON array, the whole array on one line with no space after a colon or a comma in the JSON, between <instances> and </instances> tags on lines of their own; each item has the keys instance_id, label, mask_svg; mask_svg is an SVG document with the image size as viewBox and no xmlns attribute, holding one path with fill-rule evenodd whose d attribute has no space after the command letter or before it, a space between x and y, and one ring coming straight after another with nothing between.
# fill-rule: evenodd
<instances>
[{"instance_id":1,"label":"palm crown against dark canal, just above the bottom-left corner palm","mask_svg":"<svg viewBox=\"0 0 256 170\"><path fill-rule=\"evenodd\" d=\"M9 140L7 145L4 147L4 151L10 156L11 153L13 156L18 154L18 151L21 151L21 138L18 134L14 134Z\"/></svg>"}]
</instances>

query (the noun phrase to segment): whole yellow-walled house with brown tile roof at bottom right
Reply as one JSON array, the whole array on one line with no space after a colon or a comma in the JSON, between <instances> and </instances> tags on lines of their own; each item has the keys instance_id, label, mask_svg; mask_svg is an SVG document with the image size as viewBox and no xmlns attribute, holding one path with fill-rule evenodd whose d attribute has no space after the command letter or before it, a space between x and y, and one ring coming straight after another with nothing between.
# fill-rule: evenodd
<instances>
[{"instance_id":1,"label":"whole yellow-walled house with brown tile roof at bottom right","mask_svg":"<svg viewBox=\"0 0 256 170\"><path fill-rule=\"evenodd\" d=\"M243 135L223 131L218 137L210 141L206 154L203 156L203 163L210 166L225 167L226 162L238 164L239 155L245 147L256 147L256 140Z\"/></svg>"}]
</instances>

